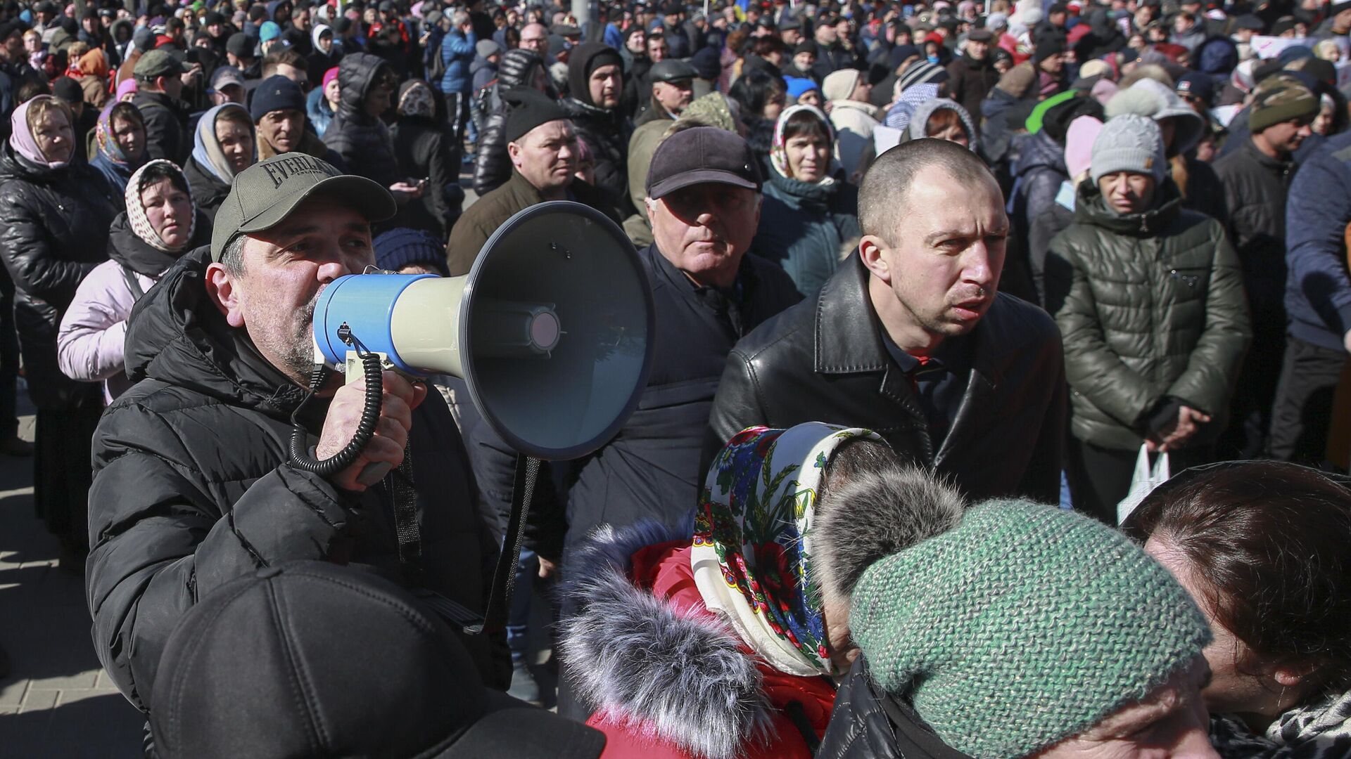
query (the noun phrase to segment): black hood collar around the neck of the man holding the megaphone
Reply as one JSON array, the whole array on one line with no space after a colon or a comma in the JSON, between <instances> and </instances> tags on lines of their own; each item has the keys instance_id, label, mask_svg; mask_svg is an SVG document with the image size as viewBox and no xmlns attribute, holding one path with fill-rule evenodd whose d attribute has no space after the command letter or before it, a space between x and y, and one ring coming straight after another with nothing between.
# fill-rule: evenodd
<instances>
[{"instance_id":1,"label":"black hood collar around the neck of the man holding the megaphone","mask_svg":"<svg viewBox=\"0 0 1351 759\"><path fill-rule=\"evenodd\" d=\"M209 247L185 254L136 304L127 323L127 375L190 388L230 405L286 420L304 390L267 363L247 332L226 323L207 296ZM327 404L311 404L317 429Z\"/></svg>"}]
</instances>

